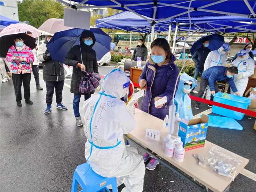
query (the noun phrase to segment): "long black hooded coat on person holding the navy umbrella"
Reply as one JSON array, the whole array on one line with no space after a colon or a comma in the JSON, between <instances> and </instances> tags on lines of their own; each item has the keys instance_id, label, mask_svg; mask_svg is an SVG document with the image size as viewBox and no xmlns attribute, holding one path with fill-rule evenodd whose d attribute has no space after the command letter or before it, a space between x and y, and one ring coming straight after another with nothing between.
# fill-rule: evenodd
<instances>
[{"instance_id":1,"label":"long black hooded coat on person holding the navy umbrella","mask_svg":"<svg viewBox=\"0 0 256 192\"><path fill-rule=\"evenodd\" d=\"M84 37L92 37L93 43L91 46L87 46L82 42L82 38ZM82 76L84 76L84 72L81 71L80 67L77 67L76 65L78 63L82 63L85 65L86 72L95 72L98 73L98 64L97 64L97 58L95 50L92 49L92 46L95 44L96 40L94 37L94 34L91 31L83 31L80 38L80 46L81 46L81 52L80 52L80 46L76 45L68 52L64 59L64 63L69 66L73 66L73 74L71 78L71 85L70 85L70 92L74 94L81 94L79 92L79 85L80 81L82 79ZM81 58L82 54L82 58Z\"/></svg>"}]
</instances>

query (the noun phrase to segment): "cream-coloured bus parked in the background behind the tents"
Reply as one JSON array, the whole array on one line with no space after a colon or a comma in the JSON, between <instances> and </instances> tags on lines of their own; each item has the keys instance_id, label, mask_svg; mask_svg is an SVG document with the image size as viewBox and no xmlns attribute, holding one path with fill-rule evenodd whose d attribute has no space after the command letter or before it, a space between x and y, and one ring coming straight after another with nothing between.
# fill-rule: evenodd
<instances>
[{"instance_id":1,"label":"cream-coloured bus parked in the background behind the tents","mask_svg":"<svg viewBox=\"0 0 256 192\"><path fill-rule=\"evenodd\" d=\"M148 37L149 36L149 37ZM151 34L146 37L145 46L150 47L150 39ZM155 34L154 39L156 38L165 38L166 36L162 34ZM138 40L142 39L140 34L132 34L132 44L131 47L136 47L138 45ZM148 42L149 39L149 42ZM116 48L114 50L118 52L122 52L126 49L126 47L130 47L130 34L129 33L115 33L114 35L114 44L116 44Z\"/></svg>"}]
</instances>

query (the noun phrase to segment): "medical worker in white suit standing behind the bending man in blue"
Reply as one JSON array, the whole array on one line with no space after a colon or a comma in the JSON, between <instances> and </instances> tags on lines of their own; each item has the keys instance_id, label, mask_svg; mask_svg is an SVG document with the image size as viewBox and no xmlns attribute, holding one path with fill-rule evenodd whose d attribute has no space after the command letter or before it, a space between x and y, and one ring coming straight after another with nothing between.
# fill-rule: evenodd
<instances>
[{"instance_id":1,"label":"medical worker in white suit standing behind the bending man in blue","mask_svg":"<svg viewBox=\"0 0 256 192\"><path fill-rule=\"evenodd\" d=\"M218 50L211 51L206 61L204 62L204 71L210 67L221 65L226 66L226 59L228 57L228 51L230 50L230 45L228 43L223 43L223 45ZM211 91L209 86L207 86L206 99L210 100ZM209 107L212 107L208 105Z\"/></svg>"}]
</instances>

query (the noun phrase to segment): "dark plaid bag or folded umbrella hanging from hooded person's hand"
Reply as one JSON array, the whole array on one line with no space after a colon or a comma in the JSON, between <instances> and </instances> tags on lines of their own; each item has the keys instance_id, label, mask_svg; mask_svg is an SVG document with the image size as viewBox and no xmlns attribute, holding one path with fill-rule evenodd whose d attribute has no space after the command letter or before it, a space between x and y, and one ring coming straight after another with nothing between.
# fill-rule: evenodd
<instances>
[{"instance_id":1,"label":"dark plaid bag or folded umbrella hanging from hooded person's hand","mask_svg":"<svg viewBox=\"0 0 256 192\"><path fill-rule=\"evenodd\" d=\"M82 94L94 92L100 85L101 76L97 73L85 73L79 85L79 92Z\"/></svg>"}]
</instances>

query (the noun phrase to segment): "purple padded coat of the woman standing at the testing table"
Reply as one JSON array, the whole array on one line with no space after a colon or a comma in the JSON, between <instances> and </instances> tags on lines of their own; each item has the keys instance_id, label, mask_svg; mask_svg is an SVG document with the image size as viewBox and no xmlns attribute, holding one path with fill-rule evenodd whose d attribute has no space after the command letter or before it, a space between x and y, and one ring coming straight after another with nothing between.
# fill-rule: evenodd
<instances>
[{"instance_id":1,"label":"purple padded coat of the woman standing at the testing table","mask_svg":"<svg viewBox=\"0 0 256 192\"><path fill-rule=\"evenodd\" d=\"M147 82L146 94L142 101L142 111L160 119L164 119L166 114L169 113L169 106L172 104L172 96L175 90L175 82L180 73L178 67L174 64L175 60L175 56L172 55L172 58L166 60L165 64L158 66L150 58L139 78L139 81L145 79ZM176 91L178 84L179 80ZM167 103L162 108L155 108L154 98L164 96L167 97Z\"/></svg>"}]
</instances>

